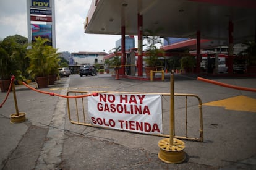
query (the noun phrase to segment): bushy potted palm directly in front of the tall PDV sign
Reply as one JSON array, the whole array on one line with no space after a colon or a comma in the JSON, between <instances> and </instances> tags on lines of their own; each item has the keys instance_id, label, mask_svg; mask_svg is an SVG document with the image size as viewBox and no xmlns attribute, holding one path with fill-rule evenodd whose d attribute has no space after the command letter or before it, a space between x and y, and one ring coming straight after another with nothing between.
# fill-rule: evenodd
<instances>
[{"instance_id":1,"label":"bushy potted palm directly in front of the tall PDV sign","mask_svg":"<svg viewBox=\"0 0 256 170\"><path fill-rule=\"evenodd\" d=\"M38 88L48 87L48 75L55 66L56 50L46 45L49 40L41 37L35 38L32 43L32 49L28 50L27 56L30 60L30 66L27 69L28 74L35 78Z\"/></svg>"}]
</instances>

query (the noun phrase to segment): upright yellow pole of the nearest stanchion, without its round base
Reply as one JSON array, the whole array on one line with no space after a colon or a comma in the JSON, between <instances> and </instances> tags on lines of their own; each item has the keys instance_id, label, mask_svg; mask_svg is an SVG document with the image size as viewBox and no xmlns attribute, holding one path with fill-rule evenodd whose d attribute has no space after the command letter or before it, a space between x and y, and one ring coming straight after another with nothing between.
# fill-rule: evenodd
<instances>
[{"instance_id":1,"label":"upright yellow pole of the nearest stanchion, without its round base","mask_svg":"<svg viewBox=\"0 0 256 170\"><path fill-rule=\"evenodd\" d=\"M173 129L174 129L174 72L171 72L171 93L170 93L170 146L173 146Z\"/></svg>"}]
</instances>

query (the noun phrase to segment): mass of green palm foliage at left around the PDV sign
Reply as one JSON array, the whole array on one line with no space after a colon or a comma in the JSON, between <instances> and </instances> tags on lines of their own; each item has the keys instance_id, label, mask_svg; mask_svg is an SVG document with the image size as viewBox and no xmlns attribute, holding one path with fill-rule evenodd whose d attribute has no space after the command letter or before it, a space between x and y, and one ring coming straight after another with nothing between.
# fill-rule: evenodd
<instances>
[{"instance_id":1,"label":"mass of green palm foliage at left around the PDV sign","mask_svg":"<svg viewBox=\"0 0 256 170\"><path fill-rule=\"evenodd\" d=\"M11 79L11 75L15 75L16 79L26 80L35 77L34 72L41 69L41 74L51 74L56 72L58 67L68 67L68 61L59 57L58 49L48 46L46 39L40 38L43 43L44 52L36 49L36 43L28 45L28 39L21 35L7 36L4 40L0 40L0 79ZM41 54L50 56L48 59L41 61L38 65L35 57ZM37 64L38 67L35 67Z\"/></svg>"}]
</instances>

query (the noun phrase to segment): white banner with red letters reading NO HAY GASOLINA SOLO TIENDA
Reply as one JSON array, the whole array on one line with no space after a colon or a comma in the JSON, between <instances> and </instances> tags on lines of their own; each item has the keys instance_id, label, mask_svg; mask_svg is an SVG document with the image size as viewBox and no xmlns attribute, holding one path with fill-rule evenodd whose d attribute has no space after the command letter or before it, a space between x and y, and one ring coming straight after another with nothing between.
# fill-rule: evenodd
<instances>
[{"instance_id":1,"label":"white banner with red letters reading NO HAY GASOLINA SOLO TIENDA","mask_svg":"<svg viewBox=\"0 0 256 170\"><path fill-rule=\"evenodd\" d=\"M163 134L161 95L99 93L88 97L88 114L93 125Z\"/></svg>"}]
</instances>

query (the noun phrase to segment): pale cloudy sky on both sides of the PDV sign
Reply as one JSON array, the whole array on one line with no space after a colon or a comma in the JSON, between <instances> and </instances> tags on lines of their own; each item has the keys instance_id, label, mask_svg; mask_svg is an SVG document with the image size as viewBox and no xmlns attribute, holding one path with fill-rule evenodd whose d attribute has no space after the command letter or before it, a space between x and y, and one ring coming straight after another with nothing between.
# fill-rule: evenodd
<instances>
[{"instance_id":1,"label":"pale cloudy sky on both sides of the PDV sign","mask_svg":"<svg viewBox=\"0 0 256 170\"><path fill-rule=\"evenodd\" d=\"M55 0L58 51L100 52L115 47L121 35L85 34L83 23L92 0ZM0 40L9 35L27 37L27 0L0 1Z\"/></svg>"}]
</instances>

